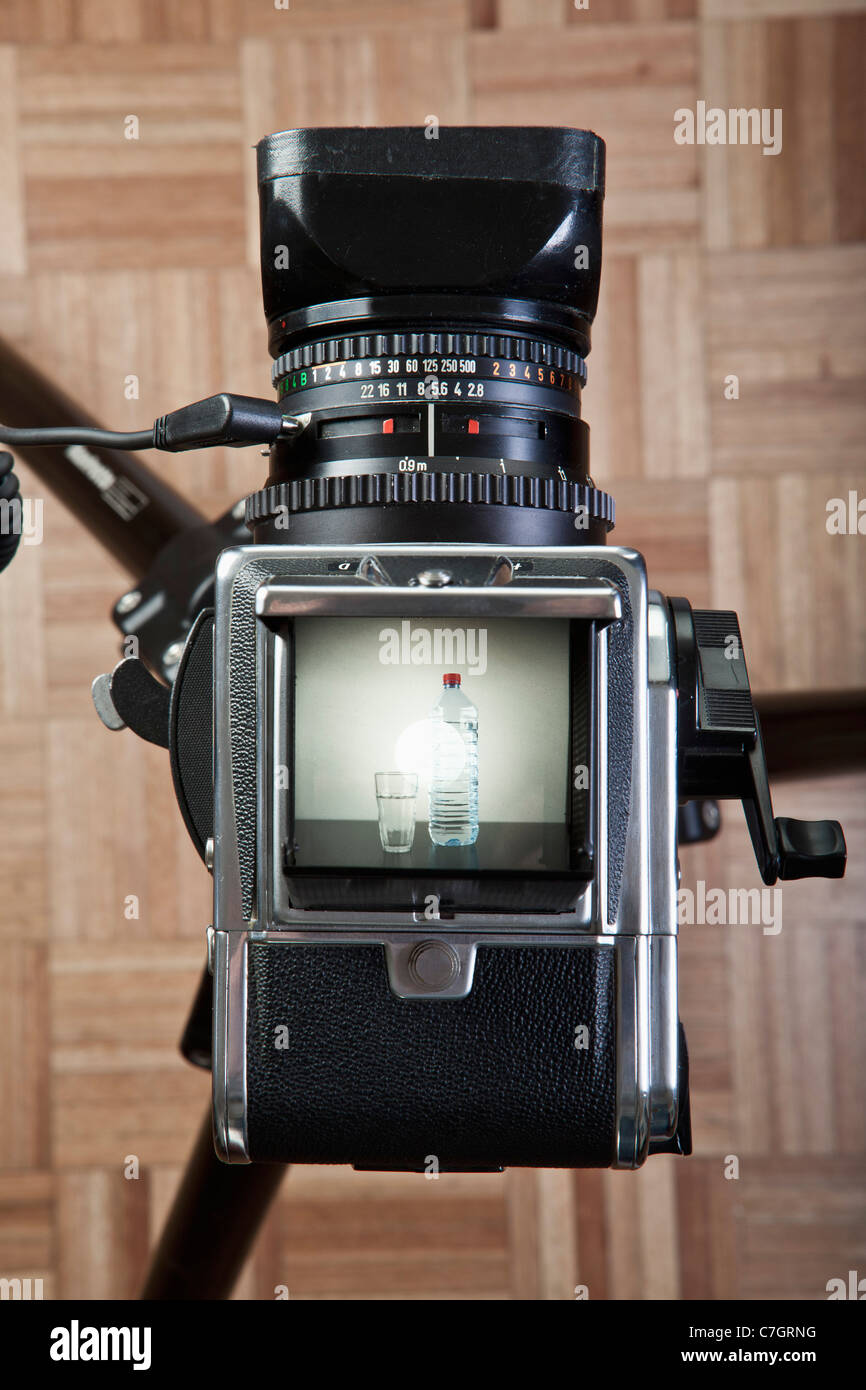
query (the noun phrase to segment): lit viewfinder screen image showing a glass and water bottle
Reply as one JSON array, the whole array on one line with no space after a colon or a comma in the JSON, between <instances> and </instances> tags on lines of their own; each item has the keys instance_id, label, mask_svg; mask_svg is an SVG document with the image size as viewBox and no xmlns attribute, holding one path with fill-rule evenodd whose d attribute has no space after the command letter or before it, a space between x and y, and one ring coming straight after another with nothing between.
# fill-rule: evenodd
<instances>
[{"instance_id":1,"label":"lit viewfinder screen image showing a glass and water bottle","mask_svg":"<svg viewBox=\"0 0 866 1390\"><path fill-rule=\"evenodd\" d=\"M569 870L569 627L296 620L293 866Z\"/></svg>"}]
</instances>

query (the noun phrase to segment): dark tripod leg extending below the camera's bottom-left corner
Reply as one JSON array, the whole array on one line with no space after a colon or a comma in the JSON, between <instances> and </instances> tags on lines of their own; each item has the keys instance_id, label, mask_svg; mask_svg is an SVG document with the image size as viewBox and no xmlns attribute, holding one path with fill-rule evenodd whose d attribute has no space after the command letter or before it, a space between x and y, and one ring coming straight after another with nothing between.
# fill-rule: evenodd
<instances>
[{"instance_id":1,"label":"dark tripod leg extending below the camera's bottom-left corner","mask_svg":"<svg viewBox=\"0 0 866 1390\"><path fill-rule=\"evenodd\" d=\"M209 1112L140 1297L228 1298L286 1170L286 1163L221 1163Z\"/></svg>"}]
</instances>

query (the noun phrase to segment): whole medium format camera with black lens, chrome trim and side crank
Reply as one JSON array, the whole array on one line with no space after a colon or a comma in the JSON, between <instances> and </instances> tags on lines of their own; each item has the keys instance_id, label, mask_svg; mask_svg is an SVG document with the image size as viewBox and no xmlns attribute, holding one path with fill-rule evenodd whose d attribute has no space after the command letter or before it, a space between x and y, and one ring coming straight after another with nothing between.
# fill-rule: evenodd
<instances>
[{"instance_id":1,"label":"whole medium format camera with black lens, chrome trim and side crank","mask_svg":"<svg viewBox=\"0 0 866 1390\"><path fill-rule=\"evenodd\" d=\"M171 714L228 1162L687 1154L678 805L742 801L766 884L844 872L835 821L773 816L737 616L605 543L603 165L571 129L259 145L278 435Z\"/></svg>"}]
</instances>

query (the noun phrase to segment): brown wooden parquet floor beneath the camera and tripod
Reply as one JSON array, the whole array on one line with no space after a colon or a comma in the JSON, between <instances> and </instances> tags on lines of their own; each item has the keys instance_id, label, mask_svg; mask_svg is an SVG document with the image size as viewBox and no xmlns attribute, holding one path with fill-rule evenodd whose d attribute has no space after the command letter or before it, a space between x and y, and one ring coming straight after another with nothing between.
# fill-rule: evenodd
<instances>
[{"instance_id":1,"label":"brown wooden parquet floor beneath the camera and tripod","mask_svg":"<svg viewBox=\"0 0 866 1390\"><path fill-rule=\"evenodd\" d=\"M584 402L616 539L659 588L738 609L758 689L862 685L866 538L824 521L866 488L865 56L862 0L6 0L0 332L121 430L267 393L257 138L589 125L607 199ZM783 153L674 143L698 100L781 107ZM254 450L154 466L213 516L260 482ZM126 582L51 496L0 581L0 1275L46 1297L135 1295L207 1102L177 1040L210 880L164 755L89 698ZM851 851L842 884L785 887L778 935L684 930L694 1158L297 1169L238 1295L823 1298L866 1275L865 791L777 790ZM734 809L683 860L687 885L759 881Z\"/></svg>"}]
</instances>

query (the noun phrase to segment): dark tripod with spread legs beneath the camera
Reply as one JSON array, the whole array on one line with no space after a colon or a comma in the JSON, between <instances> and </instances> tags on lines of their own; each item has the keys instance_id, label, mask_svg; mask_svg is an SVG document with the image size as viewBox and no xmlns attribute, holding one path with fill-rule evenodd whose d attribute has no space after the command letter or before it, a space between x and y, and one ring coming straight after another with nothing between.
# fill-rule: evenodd
<instances>
[{"instance_id":1,"label":"dark tripod with spread legs beneath the camera","mask_svg":"<svg viewBox=\"0 0 866 1390\"><path fill-rule=\"evenodd\" d=\"M0 343L0 418L13 427L95 425L81 407ZM183 639L210 605L218 553L249 543L238 509L207 518L135 456L88 446L22 446L33 473L133 577L114 609L147 666L171 681ZM70 457L72 453L72 457ZM820 776L866 766L863 692L756 699L773 776ZM146 735L145 735L146 737ZM153 739L157 741L157 739ZM680 810L680 844L719 830L713 802ZM207 969L181 1040L183 1056L211 1065L211 977ZM145 1300L225 1298L286 1172L282 1163L224 1165L206 1116L146 1277Z\"/></svg>"}]
</instances>

